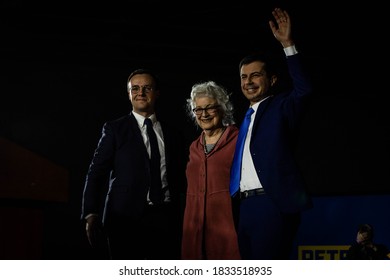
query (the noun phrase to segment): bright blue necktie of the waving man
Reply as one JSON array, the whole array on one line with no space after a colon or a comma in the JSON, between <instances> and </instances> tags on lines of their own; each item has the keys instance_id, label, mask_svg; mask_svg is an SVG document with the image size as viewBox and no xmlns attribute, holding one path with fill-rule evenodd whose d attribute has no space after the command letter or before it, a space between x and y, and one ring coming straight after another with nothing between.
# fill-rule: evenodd
<instances>
[{"instance_id":1,"label":"bright blue necktie of the waving man","mask_svg":"<svg viewBox=\"0 0 390 280\"><path fill-rule=\"evenodd\" d=\"M240 180L241 180L241 162L242 162L242 153L244 151L244 143L246 134L248 133L248 127L251 122L251 115L254 110L249 108L245 114L245 118L240 126L240 131L238 132L238 138L236 143L236 150L234 152L233 164L230 170L230 195L234 196L236 192L240 189Z\"/></svg>"}]
</instances>

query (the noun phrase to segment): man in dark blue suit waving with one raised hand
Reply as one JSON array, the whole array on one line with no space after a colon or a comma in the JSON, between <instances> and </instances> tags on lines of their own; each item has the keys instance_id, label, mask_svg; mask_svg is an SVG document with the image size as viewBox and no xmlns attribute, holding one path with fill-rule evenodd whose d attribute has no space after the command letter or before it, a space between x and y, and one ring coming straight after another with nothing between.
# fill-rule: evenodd
<instances>
[{"instance_id":1,"label":"man in dark blue suit waving with one raised hand","mask_svg":"<svg viewBox=\"0 0 390 280\"><path fill-rule=\"evenodd\" d=\"M274 61L265 55L241 60L241 90L254 110L242 165L231 172L231 194L239 201L237 230L243 259L289 259L300 213L312 206L293 157L294 136L312 88L291 38L288 13L276 8L272 14L276 23L270 21L270 28L283 46L292 88L280 91Z\"/></svg>"}]
</instances>

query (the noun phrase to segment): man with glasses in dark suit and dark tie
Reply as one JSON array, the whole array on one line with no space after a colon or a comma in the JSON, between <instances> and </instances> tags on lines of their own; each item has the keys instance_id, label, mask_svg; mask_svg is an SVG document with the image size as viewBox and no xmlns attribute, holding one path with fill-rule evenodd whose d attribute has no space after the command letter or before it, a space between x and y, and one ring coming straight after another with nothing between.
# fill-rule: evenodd
<instances>
[{"instance_id":1,"label":"man with glasses in dark suit and dark tie","mask_svg":"<svg viewBox=\"0 0 390 280\"><path fill-rule=\"evenodd\" d=\"M160 82L153 72L135 70L127 89L132 112L103 126L86 176L81 218L92 246L102 226L111 259L179 259L180 194L185 186L182 139L174 134L177 129L157 120ZM157 134L160 178L151 172L147 118ZM154 179L161 180L159 202L149 196Z\"/></svg>"}]
</instances>

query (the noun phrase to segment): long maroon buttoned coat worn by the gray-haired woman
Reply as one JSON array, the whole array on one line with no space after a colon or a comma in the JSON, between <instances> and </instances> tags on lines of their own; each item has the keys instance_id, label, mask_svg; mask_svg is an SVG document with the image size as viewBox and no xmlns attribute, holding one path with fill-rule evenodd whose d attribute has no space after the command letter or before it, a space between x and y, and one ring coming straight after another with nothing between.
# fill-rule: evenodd
<instances>
[{"instance_id":1,"label":"long maroon buttoned coat worn by the gray-haired woman","mask_svg":"<svg viewBox=\"0 0 390 280\"><path fill-rule=\"evenodd\" d=\"M237 127L228 126L207 155L203 132L190 146L182 259L240 259L229 194L237 135Z\"/></svg>"}]
</instances>

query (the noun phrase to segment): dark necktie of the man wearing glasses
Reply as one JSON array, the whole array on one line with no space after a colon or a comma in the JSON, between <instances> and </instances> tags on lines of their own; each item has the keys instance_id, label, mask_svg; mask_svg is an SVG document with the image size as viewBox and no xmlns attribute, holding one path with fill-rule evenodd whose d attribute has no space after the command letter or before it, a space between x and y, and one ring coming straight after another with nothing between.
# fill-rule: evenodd
<instances>
[{"instance_id":1,"label":"dark necktie of the man wearing glasses","mask_svg":"<svg viewBox=\"0 0 390 280\"><path fill-rule=\"evenodd\" d=\"M153 204L159 204L162 202L160 152L158 149L157 136L153 130L152 121L149 118L146 118L145 124L150 143L150 172L152 184L149 190L149 198Z\"/></svg>"}]
</instances>

